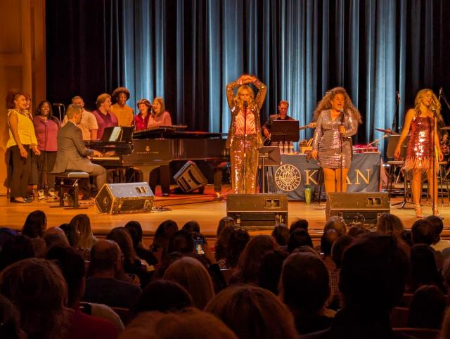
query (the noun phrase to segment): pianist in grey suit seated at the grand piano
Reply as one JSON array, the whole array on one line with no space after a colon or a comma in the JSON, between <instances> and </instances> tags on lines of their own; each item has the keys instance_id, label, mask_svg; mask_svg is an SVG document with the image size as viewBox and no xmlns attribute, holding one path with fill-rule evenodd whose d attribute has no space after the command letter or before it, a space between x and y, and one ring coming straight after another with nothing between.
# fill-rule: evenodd
<instances>
[{"instance_id":1,"label":"pianist in grey suit seated at the grand piano","mask_svg":"<svg viewBox=\"0 0 450 339\"><path fill-rule=\"evenodd\" d=\"M82 131L77 124L82 119L83 110L77 105L69 105L65 115L68 123L58 132L58 153L53 172L61 173L67 170L75 170L89 173L91 177L96 177L97 189L106 182L106 169L101 165L93 164L87 156L101 157L102 154L95 150L90 150L84 146ZM82 185L84 186L84 185Z\"/></svg>"}]
</instances>

